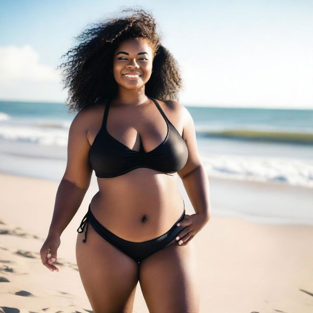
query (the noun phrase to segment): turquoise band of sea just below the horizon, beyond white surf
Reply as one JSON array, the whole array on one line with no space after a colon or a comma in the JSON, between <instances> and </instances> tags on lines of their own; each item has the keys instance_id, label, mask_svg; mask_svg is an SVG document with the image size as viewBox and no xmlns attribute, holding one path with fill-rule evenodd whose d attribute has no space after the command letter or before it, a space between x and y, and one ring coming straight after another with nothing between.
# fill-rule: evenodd
<instances>
[{"instance_id":1,"label":"turquoise band of sea just below the horizon, beyond white surf","mask_svg":"<svg viewBox=\"0 0 313 313\"><path fill-rule=\"evenodd\" d=\"M313 144L313 110L186 108L201 136ZM0 101L4 123L67 129L74 115L62 103Z\"/></svg>"}]
</instances>

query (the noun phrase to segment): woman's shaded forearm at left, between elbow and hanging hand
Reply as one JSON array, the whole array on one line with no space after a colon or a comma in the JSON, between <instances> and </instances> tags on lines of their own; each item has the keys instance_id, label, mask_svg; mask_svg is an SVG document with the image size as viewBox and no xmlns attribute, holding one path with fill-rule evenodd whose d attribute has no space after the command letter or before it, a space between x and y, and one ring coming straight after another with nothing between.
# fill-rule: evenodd
<instances>
[{"instance_id":1,"label":"woman's shaded forearm at left, between elbow and hanging hand","mask_svg":"<svg viewBox=\"0 0 313 313\"><path fill-rule=\"evenodd\" d=\"M49 235L61 236L76 214L87 189L81 189L72 182L62 179L57 190Z\"/></svg>"}]
</instances>

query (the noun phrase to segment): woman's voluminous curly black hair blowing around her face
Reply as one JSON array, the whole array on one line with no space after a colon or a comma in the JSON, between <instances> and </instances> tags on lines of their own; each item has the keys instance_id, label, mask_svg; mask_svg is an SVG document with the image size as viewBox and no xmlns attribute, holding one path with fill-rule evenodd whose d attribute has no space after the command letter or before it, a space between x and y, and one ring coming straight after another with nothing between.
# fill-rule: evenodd
<instances>
[{"instance_id":1,"label":"woman's voluminous curly black hair blowing around her face","mask_svg":"<svg viewBox=\"0 0 313 313\"><path fill-rule=\"evenodd\" d=\"M69 112L98 103L108 102L116 96L118 88L112 73L113 53L127 39L145 38L154 51L153 72L145 84L145 93L162 100L177 100L182 88L179 65L172 54L160 44L156 22L144 9L125 8L131 16L108 18L93 22L74 40L79 45L69 49L61 58L67 62L57 67L62 71L65 88L69 88L66 105Z\"/></svg>"}]
</instances>

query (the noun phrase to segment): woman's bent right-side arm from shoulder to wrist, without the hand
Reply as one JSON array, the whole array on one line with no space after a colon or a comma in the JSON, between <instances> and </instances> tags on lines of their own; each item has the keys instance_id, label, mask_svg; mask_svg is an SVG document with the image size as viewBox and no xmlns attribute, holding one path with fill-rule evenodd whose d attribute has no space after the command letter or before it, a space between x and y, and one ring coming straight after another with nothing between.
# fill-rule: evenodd
<instances>
[{"instance_id":1,"label":"woman's bent right-side arm from shoulder to wrist, without the hand","mask_svg":"<svg viewBox=\"0 0 313 313\"><path fill-rule=\"evenodd\" d=\"M178 172L195 212L207 222L210 219L209 180L199 157L195 125L185 107L182 138L188 149L185 166Z\"/></svg>"}]
</instances>

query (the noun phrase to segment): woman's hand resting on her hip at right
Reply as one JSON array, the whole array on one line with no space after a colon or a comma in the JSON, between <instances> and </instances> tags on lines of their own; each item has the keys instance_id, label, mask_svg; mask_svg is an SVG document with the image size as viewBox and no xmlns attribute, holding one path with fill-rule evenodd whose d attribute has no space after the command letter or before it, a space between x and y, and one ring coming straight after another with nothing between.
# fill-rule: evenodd
<instances>
[{"instance_id":1,"label":"woman's hand resting on her hip at right","mask_svg":"<svg viewBox=\"0 0 313 313\"><path fill-rule=\"evenodd\" d=\"M207 222L208 218L198 213L185 214L184 218L177 224L177 226L186 226L175 238L179 246L186 246Z\"/></svg>"}]
</instances>

